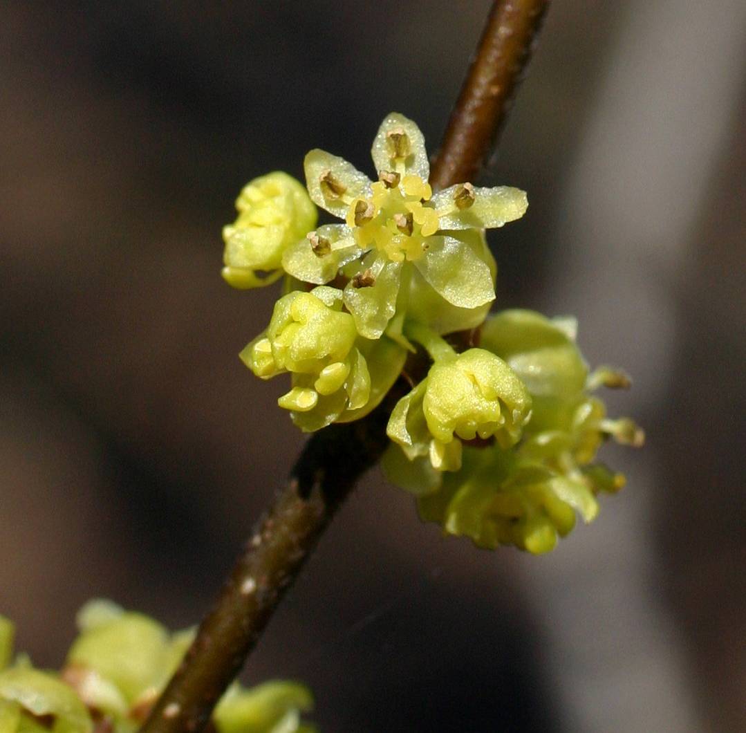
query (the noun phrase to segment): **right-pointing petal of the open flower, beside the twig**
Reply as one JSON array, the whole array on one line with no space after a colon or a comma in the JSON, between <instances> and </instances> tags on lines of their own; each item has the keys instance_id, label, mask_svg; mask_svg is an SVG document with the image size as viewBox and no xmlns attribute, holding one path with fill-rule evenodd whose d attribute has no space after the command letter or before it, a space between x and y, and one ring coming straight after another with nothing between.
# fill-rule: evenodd
<instances>
[{"instance_id":1,"label":"right-pointing petal of the open flower, beside the twig","mask_svg":"<svg viewBox=\"0 0 746 733\"><path fill-rule=\"evenodd\" d=\"M493 229L520 219L528 208L526 192L510 186L469 187L471 204L459 208L457 201L465 184L448 187L433 196L432 204L441 212L441 229ZM460 200L463 202L463 196ZM463 205L463 204L462 204Z\"/></svg>"}]
</instances>

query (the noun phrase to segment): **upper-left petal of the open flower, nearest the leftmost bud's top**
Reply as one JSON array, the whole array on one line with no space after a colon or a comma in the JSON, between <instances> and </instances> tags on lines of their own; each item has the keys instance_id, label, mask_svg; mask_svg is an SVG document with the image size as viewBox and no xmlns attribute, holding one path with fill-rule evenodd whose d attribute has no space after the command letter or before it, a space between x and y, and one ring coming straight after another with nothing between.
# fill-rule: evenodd
<instances>
[{"instance_id":1,"label":"upper-left petal of the open flower, nearest the leftmost bud's top","mask_svg":"<svg viewBox=\"0 0 746 733\"><path fill-rule=\"evenodd\" d=\"M371 182L352 163L338 155L313 149L303 163L306 186L314 203L344 219L350 202L371 195Z\"/></svg>"}]
</instances>

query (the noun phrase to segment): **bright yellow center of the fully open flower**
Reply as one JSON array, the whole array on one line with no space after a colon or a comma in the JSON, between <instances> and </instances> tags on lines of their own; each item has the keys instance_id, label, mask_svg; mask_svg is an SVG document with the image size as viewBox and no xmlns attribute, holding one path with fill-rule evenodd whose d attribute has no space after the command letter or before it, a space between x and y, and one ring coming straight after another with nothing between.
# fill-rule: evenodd
<instances>
[{"instance_id":1,"label":"bright yellow center of the fully open flower","mask_svg":"<svg viewBox=\"0 0 746 733\"><path fill-rule=\"evenodd\" d=\"M438 231L439 216L427 202L433 190L419 175L382 171L369 199L351 202L347 224L363 249L375 247L389 260L418 260L427 238Z\"/></svg>"}]
</instances>

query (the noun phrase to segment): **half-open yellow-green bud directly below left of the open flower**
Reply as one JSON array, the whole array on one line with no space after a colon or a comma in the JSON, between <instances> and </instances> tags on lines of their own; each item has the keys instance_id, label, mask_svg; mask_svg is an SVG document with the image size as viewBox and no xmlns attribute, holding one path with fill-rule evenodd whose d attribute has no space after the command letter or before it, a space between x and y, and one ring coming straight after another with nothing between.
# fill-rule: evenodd
<instances>
[{"instance_id":1,"label":"half-open yellow-green bud directly below left of the open flower","mask_svg":"<svg viewBox=\"0 0 746 733\"><path fill-rule=\"evenodd\" d=\"M305 431L363 417L391 387L404 357L387 338L359 338L353 317L342 311L342 291L326 286L280 298L267 330L241 352L258 377L292 373L278 405Z\"/></svg>"}]
</instances>

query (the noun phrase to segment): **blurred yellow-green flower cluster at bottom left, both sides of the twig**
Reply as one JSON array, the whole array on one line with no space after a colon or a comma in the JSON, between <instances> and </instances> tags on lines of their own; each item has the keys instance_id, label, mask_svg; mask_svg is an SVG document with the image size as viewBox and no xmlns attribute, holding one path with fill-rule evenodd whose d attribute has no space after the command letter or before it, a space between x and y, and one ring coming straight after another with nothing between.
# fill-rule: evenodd
<instances>
[{"instance_id":1,"label":"blurred yellow-green flower cluster at bottom left, both sides of the twig","mask_svg":"<svg viewBox=\"0 0 746 733\"><path fill-rule=\"evenodd\" d=\"M81 633L60 673L37 670L18 655L13 624L0 616L0 732L134 733L192 641L157 621L93 601L78 614ZM301 721L313 699L301 684L233 684L213 712L218 733L313 733Z\"/></svg>"}]
</instances>

